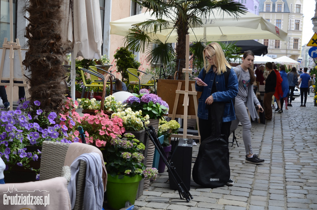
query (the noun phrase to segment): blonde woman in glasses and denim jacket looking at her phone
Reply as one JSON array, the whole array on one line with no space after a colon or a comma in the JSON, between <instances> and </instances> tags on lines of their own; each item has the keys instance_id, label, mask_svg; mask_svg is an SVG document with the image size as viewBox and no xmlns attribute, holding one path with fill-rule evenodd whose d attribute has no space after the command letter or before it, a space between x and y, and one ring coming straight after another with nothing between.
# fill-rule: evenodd
<instances>
[{"instance_id":1,"label":"blonde woman in glasses and denim jacket looking at her phone","mask_svg":"<svg viewBox=\"0 0 317 210\"><path fill-rule=\"evenodd\" d=\"M216 42L210 43L203 51L204 68L200 71L195 88L202 92L198 99L198 123L201 142L215 133L212 128L211 115L212 108L219 103L224 106L223 118L220 133L224 135L224 139L229 143L231 121L236 119L232 99L238 93L238 81L235 72L227 62L223 50ZM207 86L204 86L206 83ZM214 130L213 130L214 129ZM229 157L228 157L229 158ZM229 180L228 186L233 185L233 181Z\"/></svg>"}]
</instances>

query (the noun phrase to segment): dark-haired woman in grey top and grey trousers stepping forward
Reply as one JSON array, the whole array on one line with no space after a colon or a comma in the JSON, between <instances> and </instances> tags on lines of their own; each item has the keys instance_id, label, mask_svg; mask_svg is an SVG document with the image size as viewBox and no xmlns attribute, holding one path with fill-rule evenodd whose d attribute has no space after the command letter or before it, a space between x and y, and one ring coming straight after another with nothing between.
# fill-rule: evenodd
<instances>
[{"instance_id":1,"label":"dark-haired woman in grey top and grey trousers stepping forward","mask_svg":"<svg viewBox=\"0 0 317 210\"><path fill-rule=\"evenodd\" d=\"M248 110L252 120L259 118L256 112L255 104L260 112L263 108L253 91L253 83L256 81L254 71L251 69L254 61L252 51L245 51L242 57L242 64L237 66L234 71L238 77L238 95L235 98L236 120L232 121L230 133L236 130L239 121L242 125L242 137L245 148L245 162L253 164L261 164L264 162L256 154L253 154L251 146L251 121L249 119ZM247 110L248 108L248 110Z\"/></svg>"}]
</instances>

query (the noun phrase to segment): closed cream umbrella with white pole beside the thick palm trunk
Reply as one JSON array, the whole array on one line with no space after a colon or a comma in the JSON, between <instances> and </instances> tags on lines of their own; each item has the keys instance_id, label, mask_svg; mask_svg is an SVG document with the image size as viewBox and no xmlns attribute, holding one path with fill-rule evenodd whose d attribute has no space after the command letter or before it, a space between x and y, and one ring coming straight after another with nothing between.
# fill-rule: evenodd
<instances>
[{"instance_id":1,"label":"closed cream umbrella with white pole beside the thick palm trunk","mask_svg":"<svg viewBox=\"0 0 317 210\"><path fill-rule=\"evenodd\" d=\"M101 57L102 31L98 0L65 0L62 5L62 34L66 38L65 49L71 51L71 96L75 99L75 58Z\"/></svg>"}]
</instances>

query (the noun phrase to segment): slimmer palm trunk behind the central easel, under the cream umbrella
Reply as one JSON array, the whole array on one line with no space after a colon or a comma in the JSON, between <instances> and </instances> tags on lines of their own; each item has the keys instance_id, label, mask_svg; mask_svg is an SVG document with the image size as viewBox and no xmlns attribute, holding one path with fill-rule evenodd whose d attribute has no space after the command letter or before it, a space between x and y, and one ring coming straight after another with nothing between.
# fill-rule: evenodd
<instances>
[{"instance_id":1,"label":"slimmer palm trunk behind the central easel, under the cream umbrella","mask_svg":"<svg viewBox=\"0 0 317 210\"><path fill-rule=\"evenodd\" d=\"M188 22L183 21L180 19L178 22L178 27L177 27L177 46L175 48L176 50L176 70L179 73L178 79L184 79L182 72L183 69L188 68L186 67L186 59L189 59L189 55L186 55L186 35L188 34ZM178 67L179 66L179 67Z\"/></svg>"}]
</instances>

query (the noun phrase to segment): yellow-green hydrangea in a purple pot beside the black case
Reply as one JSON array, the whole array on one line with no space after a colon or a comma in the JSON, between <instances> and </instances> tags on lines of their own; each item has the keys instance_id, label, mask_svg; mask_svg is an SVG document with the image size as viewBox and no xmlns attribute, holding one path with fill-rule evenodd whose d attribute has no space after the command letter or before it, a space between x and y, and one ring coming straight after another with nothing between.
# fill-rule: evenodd
<instances>
[{"instance_id":1,"label":"yellow-green hydrangea in a purple pot beside the black case","mask_svg":"<svg viewBox=\"0 0 317 210\"><path fill-rule=\"evenodd\" d=\"M169 141L169 138L172 134L175 134L178 132L178 129L180 128L180 125L177 121L171 120L171 121L165 121L160 120L159 121L159 135L164 135L164 141L162 143L162 147L164 149L166 157L168 157L169 152L171 151L171 144ZM163 173L165 171L165 163L163 159L160 157L159 159L159 167L158 167L159 173Z\"/></svg>"}]
</instances>

